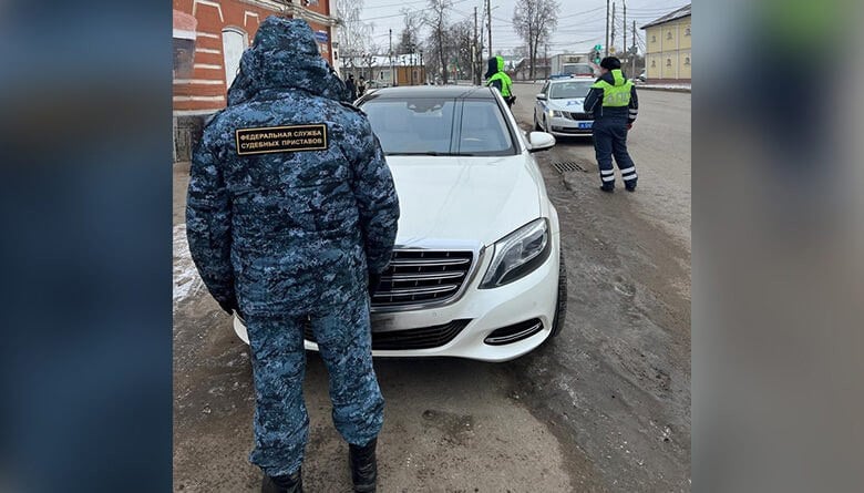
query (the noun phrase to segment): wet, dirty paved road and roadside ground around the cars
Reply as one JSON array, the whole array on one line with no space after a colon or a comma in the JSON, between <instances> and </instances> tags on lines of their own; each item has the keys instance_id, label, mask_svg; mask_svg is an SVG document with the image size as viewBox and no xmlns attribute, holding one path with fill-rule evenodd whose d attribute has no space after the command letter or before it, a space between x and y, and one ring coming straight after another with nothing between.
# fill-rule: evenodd
<instances>
[{"instance_id":1,"label":"wet, dirty paved road and roadside ground around the cars","mask_svg":"<svg viewBox=\"0 0 864 493\"><path fill-rule=\"evenodd\" d=\"M531 126L532 85L514 86ZM589 140L537 161L563 228L567 323L506 363L376 360L387 399L381 492L690 490L690 95L640 94L635 194L597 189ZM584 171L560 174L554 163ZM174 491L253 492L248 348L185 243L188 167L174 170ZM307 491L350 491L327 372L308 353Z\"/></svg>"}]
</instances>

